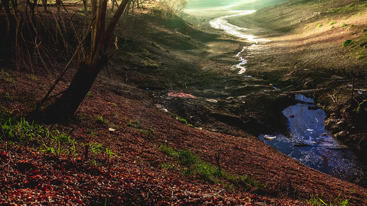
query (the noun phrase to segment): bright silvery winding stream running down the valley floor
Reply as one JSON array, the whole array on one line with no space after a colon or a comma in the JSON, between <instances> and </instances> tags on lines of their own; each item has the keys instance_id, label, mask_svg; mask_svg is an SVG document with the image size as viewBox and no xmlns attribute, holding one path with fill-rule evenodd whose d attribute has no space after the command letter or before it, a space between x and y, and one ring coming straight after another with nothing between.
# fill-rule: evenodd
<instances>
[{"instance_id":1,"label":"bright silvery winding stream running down the valley floor","mask_svg":"<svg viewBox=\"0 0 367 206\"><path fill-rule=\"evenodd\" d=\"M240 61L237 65L233 65L233 67L235 69L239 69L238 74L243 74L246 71L246 67L244 65L247 64L247 60L244 59L241 56L241 54L244 51L246 51L247 49L250 49L251 47L253 47L254 45L257 45L260 42L266 42L266 41L269 41L269 40L267 40L265 38L258 38L256 36L251 35L251 34L247 34L249 29L233 25L233 24L229 23L227 21L227 19L229 17L232 17L232 16L242 16L242 15L252 14L255 11L256 10L231 10L229 12L233 12L234 14L227 15L227 16L221 16L221 17L218 17L218 18L213 19L212 21L210 21L211 27L216 28L218 30L224 30L228 34L231 34L233 36L237 36L239 38L247 39L247 41L253 43L253 45L251 45L249 47L243 47L242 50L240 52L238 52L238 54L235 56ZM251 77L251 76L246 76L246 77Z\"/></svg>"}]
</instances>

